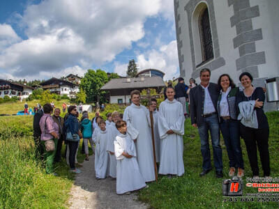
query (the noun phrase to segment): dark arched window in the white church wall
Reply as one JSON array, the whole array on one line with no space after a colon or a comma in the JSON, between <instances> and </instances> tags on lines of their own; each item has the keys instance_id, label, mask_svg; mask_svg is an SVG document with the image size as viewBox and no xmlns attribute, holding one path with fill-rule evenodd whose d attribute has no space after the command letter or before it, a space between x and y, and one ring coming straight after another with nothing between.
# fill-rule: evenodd
<instances>
[{"instance_id":1,"label":"dark arched window in the white church wall","mask_svg":"<svg viewBox=\"0 0 279 209\"><path fill-rule=\"evenodd\" d=\"M208 8L200 15L199 31L202 46L202 63L204 63L214 57Z\"/></svg>"}]
</instances>

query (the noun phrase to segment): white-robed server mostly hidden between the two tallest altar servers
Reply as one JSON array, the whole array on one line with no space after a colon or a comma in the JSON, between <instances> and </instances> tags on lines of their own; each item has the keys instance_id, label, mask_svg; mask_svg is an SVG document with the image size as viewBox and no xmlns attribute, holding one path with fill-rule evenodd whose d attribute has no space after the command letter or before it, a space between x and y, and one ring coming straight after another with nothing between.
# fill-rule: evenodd
<instances>
[{"instance_id":1,"label":"white-robed server mostly hidden between the two tallest altar servers","mask_svg":"<svg viewBox=\"0 0 279 209\"><path fill-rule=\"evenodd\" d=\"M158 114L157 111L157 100L151 99L150 110L153 112L153 132L154 132L154 142L156 151L156 162L160 162L160 135L158 130Z\"/></svg>"}]
</instances>

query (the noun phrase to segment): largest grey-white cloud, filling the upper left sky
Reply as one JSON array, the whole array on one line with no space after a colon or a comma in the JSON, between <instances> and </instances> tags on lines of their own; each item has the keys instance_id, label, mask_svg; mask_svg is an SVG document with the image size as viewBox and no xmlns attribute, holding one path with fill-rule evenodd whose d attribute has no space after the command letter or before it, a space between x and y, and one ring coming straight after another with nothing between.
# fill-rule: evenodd
<instances>
[{"instance_id":1,"label":"largest grey-white cloud, filling the upper left sky","mask_svg":"<svg viewBox=\"0 0 279 209\"><path fill-rule=\"evenodd\" d=\"M0 68L27 77L110 62L144 37L146 18L157 15L161 5L160 0L46 0L27 6L20 24L28 38L7 32L17 41L0 52Z\"/></svg>"}]
</instances>

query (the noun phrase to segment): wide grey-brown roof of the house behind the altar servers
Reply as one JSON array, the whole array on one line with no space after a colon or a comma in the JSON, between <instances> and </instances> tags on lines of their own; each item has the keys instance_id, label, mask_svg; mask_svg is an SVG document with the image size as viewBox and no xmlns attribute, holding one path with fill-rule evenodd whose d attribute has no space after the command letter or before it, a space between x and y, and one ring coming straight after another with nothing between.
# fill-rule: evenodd
<instances>
[{"instance_id":1,"label":"wide grey-brown roof of the house behind the altar servers","mask_svg":"<svg viewBox=\"0 0 279 209\"><path fill-rule=\"evenodd\" d=\"M165 86L162 77L127 77L111 79L101 90L123 89L123 88L156 88Z\"/></svg>"}]
</instances>

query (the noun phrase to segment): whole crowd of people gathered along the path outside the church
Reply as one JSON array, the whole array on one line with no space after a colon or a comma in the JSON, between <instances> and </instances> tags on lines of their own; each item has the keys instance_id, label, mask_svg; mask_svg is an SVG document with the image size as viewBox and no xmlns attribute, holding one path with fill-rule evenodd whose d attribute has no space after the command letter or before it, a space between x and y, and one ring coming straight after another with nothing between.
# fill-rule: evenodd
<instances>
[{"instance_id":1,"label":"whole crowd of people gathered along the path outside the church","mask_svg":"<svg viewBox=\"0 0 279 209\"><path fill-rule=\"evenodd\" d=\"M236 87L227 74L219 77L218 84L209 82L210 77L209 69L201 70L200 84L191 86L188 91L190 120L193 127L197 127L201 141L203 162L199 175L204 176L212 170L210 134L216 177L223 178L221 131L229 157L229 176L234 176L236 170L237 176L244 176L242 137L246 143L252 175L259 176L258 149L264 176L269 177L269 124L263 111L264 89L252 86L252 76L248 72L243 72L239 77L243 89ZM146 187L147 182L156 180L157 167L158 173L168 178L183 176L185 100L175 99L176 91L171 85L165 88L165 94L167 98L157 110L156 99L151 99L147 109L140 104L140 91L132 91L132 103L126 107L123 118L114 111L107 114L106 121L98 113L91 121L86 111L82 112L79 121L76 106L68 107L65 118L59 116L58 108L54 109L54 116L51 116L52 106L45 104L40 118L40 142L45 153L47 173L54 172L53 161L59 160L57 155L61 156L61 139L67 141L70 171L80 173L75 162L80 139L83 138L85 160L89 160L90 143L95 153L96 178L116 178L117 194L130 194L131 191ZM181 97L179 95L178 98ZM151 126L156 156L153 156ZM45 149L45 141L50 139L53 139L56 151Z\"/></svg>"}]
</instances>

